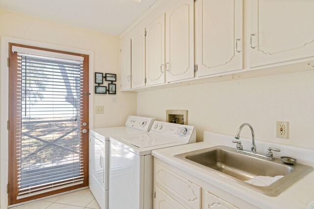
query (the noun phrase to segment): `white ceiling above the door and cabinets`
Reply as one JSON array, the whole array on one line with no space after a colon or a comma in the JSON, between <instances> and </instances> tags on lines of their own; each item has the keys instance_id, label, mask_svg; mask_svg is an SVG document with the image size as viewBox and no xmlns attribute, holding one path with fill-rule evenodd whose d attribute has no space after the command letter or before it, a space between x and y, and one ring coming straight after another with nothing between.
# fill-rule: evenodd
<instances>
[{"instance_id":1,"label":"white ceiling above the door and cabinets","mask_svg":"<svg viewBox=\"0 0 314 209\"><path fill-rule=\"evenodd\" d=\"M0 0L0 7L120 35L156 0Z\"/></svg>"}]
</instances>

